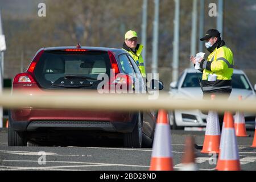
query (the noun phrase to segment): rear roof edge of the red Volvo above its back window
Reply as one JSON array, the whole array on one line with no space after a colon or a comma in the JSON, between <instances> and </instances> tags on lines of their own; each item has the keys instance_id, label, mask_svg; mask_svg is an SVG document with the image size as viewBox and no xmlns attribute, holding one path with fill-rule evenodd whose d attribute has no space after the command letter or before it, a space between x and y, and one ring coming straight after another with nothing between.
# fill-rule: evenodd
<instances>
[{"instance_id":1,"label":"rear roof edge of the red Volvo above its back window","mask_svg":"<svg viewBox=\"0 0 256 182\"><path fill-rule=\"evenodd\" d=\"M44 51L56 51L60 49L77 49L75 46L62 46L62 47L44 47ZM114 53L127 53L127 51L120 48L109 48L109 47L81 47L80 49L88 49L91 51L112 51Z\"/></svg>"}]
</instances>

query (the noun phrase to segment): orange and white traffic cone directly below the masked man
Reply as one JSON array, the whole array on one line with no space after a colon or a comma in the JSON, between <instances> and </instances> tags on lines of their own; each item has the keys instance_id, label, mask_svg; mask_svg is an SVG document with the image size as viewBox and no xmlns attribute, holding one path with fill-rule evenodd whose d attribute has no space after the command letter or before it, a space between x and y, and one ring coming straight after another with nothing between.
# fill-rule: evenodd
<instances>
[{"instance_id":1,"label":"orange and white traffic cone directly below the masked man","mask_svg":"<svg viewBox=\"0 0 256 182\"><path fill-rule=\"evenodd\" d=\"M211 96L212 100L214 95ZM220 123L218 122L218 113L209 111L207 116L207 128L205 131L204 145L201 153L218 153L220 148Z\"/></svg>"}]
</instances>

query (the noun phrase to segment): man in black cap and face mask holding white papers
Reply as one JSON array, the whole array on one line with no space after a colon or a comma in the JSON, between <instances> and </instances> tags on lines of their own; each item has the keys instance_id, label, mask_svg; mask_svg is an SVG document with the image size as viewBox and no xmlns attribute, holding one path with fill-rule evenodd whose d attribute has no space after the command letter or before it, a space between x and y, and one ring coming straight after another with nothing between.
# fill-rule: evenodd
<instances>
[{"instance_id":1,"label":"man in black cap and face mask holding white papers","mask_svg":"<svg viewBox=\"0 0 256 182\"><path fill-rule=\"evenodd\" d=\"M209 99L211 94L216 98L218 96L228 98L232 92L233 53L225 46L220 32L215 29L208 30L200 40L205 41L205 47L210 52L207 60L203 58L199 60L201 68L199 71L203 72L201 86L204 99ZM195 57L191 56L191 61L195 64ZM219 116L220 128L222 128L223 115L219 114Z\"/></svg>"}]
</instances>

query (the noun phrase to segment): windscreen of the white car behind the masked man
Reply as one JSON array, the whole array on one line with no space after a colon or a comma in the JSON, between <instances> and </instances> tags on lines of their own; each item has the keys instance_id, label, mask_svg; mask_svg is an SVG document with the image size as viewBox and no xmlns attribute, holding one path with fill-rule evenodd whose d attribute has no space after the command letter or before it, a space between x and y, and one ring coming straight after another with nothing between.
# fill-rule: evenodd
<instances>
[{"instance_id":1,"label":"windscreen of the white car behind the masked man","mask_svg":"<svg viewBox=\"0 0 256 182\"><path fill-rule=\"evenodd\" d=\"M202 73L187 73L181 87L200 87L199 79L202 79ZM233 74L232 88L251 90L250 84L243 74Z\"/></svg>"}]
</instances>

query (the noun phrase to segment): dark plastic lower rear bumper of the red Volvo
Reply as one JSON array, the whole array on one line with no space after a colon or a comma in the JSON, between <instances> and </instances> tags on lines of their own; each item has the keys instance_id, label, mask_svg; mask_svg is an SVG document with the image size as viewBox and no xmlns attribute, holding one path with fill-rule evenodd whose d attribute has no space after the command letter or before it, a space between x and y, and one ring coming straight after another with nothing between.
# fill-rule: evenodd
<instances>
[{"instance_id":1,"label":"dark plastic lower rear bumper of the red Volvo","mask_svg":"<svg viewBox=\"0 0 256 182\"><path fill-rule=\"evenodd\" d=\"M119 115L121 120L116 121L118 118L115 115L115 120L111 117L107 117L106 113L104 117L97 118L94 116L94 120L90 119L31 119L31 121L15 121L13 113L9 112L9 121L14 129L14 131L35 131L37 129L56 129L56 130L102 130L109 132L119 132L119 133L130 133L133 131L137 113L129 113L124 117L125 114ZM11 117L12 116L12 117ZM91 116L90 116L91 117ZM108 118L108 120L103 120ZM110 121L109 119L113 119Z\"/></svg>"}]
</instances>

